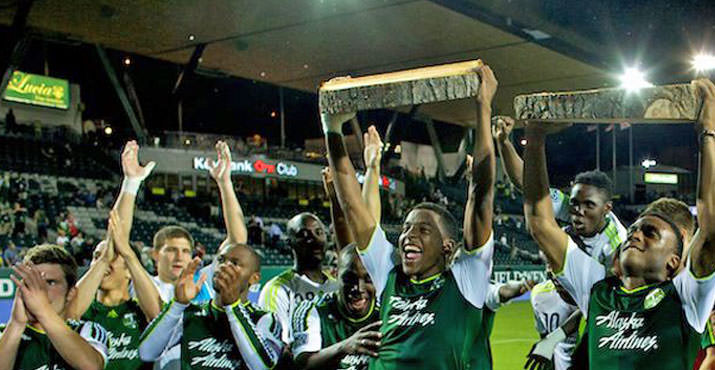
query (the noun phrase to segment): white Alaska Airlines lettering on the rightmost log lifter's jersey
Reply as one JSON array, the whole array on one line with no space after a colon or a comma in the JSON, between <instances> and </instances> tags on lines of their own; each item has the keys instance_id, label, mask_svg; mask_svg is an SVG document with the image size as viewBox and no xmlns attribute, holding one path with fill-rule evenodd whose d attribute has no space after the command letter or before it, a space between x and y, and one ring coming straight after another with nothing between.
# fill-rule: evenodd
<instances>
[{"instance_id":1,"label":"white Alaska Airlines lettering on the rightmost log lifter's jersey","mask_svg":"<svg viewBox=\"0 0 715 370\"><path fill-rule=\"evenodd\" d=\"M658 336L639 336L638 330L645 324L645 319L638 317L637 313L630 315L620 315L618 311L612 311L608 315L596 316L596 326L605 326L614 329L616 332L608 337L598 339L598 348L608 348L615 350L641 350L648 352L651 349L658 349ZM628 335L630 332L630 335Z\"/></svg>"}]
</instances>

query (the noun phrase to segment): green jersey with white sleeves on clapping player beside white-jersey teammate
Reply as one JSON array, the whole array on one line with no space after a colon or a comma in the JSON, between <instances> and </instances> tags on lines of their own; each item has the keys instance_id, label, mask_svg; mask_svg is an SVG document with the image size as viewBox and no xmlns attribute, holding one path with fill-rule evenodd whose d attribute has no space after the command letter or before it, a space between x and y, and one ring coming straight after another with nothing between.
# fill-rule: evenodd
<instances>
[{"instance_id":1,"label":"green jersey with white sleeves on clapping player beside white-jersey teammate","mask_svg":"<svg viewBox=\"0 0 715 370\"><path fill-rule=\"evenodd\" d=\"M272 368L283 347L280 332L273 314L248 302L218 307L213 301L171 301L142 334L139 354L153 361L178 344L185 370Z\"/></svg>"}]
</instances>

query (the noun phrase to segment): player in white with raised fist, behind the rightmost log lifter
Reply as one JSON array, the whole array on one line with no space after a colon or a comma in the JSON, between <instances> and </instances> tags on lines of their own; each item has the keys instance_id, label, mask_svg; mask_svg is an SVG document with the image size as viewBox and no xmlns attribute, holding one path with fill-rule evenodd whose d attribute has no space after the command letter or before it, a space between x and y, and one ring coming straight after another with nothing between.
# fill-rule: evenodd
<instances>
[{"instance_id":1,"label":"player in white with raised fist, behind the rightmost log lifter","mask_svg":"<svg viewBox=\"0 0 715 370\"><path fill-rule=\"evenodd\" d=\"M501 156L504 172L517 189L523 189L524 162L512 144L514 128L511 117L496 118L493 136ZM601 171L583 172L574 178L571 194L549 189L556 219L568 224L564 230L580 239L585 251L604 266L612 266L613 255L626 239L626 228L612 212L613 184Z\"/></svg>"}]
</instances>

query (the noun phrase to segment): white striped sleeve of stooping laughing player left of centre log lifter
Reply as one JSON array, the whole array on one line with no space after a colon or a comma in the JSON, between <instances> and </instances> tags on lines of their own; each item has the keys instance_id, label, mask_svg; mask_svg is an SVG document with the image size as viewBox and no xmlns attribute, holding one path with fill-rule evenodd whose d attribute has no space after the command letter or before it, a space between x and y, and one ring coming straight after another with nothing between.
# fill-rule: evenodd
<instances>
[{"instance_id":1,"label":"white striped sleeve of stooping laughing player left of centre log lifter","mask_svg":"<svg viewBox=\"0 0 715 370\"><path fill-rule=\"evenodd\" d=\"M292 320L293 358L301 353L313 353L322 349L320 315L314 302L306 301L298 305Z\"/></svg>"}]
</instances>

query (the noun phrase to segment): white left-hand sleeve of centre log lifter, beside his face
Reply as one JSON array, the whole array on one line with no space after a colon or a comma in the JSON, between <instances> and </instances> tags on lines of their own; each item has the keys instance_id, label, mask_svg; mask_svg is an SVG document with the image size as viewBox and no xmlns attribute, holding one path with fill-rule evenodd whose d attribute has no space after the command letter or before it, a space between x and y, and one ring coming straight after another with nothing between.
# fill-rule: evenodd
<instances>
[{"instance_id":1,"label":"white left-hand sleeve of centre log lifter, beside his face","mask_svg":"<svg viewBox=\"0 0 715 370\"><path fill-rule=\"evenodd\" d=\"M387 284L387 277L395 267L392 262L392 253L395 247L387 240L385 231L380 225L375 226L370 242L365 249L358 249L358 254L372 283L375 285L377 297L382 296L382 291Z\"/></svg>"}]
</instances>

